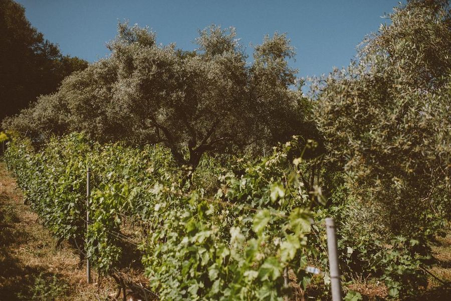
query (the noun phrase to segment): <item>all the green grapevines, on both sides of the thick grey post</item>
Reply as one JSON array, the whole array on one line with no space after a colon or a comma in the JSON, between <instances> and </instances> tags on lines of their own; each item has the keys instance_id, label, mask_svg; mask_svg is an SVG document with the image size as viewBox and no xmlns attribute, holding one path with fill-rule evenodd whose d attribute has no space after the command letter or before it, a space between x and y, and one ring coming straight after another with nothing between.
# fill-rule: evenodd
<instances>
[{"instance_id":1,"label":"all the green grapevines, on both sides of the thick grey post","mask_svg":"<svg viewBox=\"0 0 451 301\"><path fill-rule=\"evenodd\" d=\"M298 147L293 140L254 161L205 157L190 183L183 181L165 147L101 145L81 134L54 138L39 152L29 140L18 138L10 143L5 160L32 208L58 239L86 250L100 275L129 266L130 248L135 248L132 252L142 256L149 278L149 295L161 299L294 295L284 285L285 268L290 281L301 284L296 294L309 295L309 287L320 287L323 292L314 295L326 297L328 216L340 221L345 273L356 264L366 267L362 272L384 271L379 277L394 296L426 285L421 268L429 261L419 240L398 236L390 246L370 243L370 236L346 233L352 231L344 228L349 227L348 209L325 208L317 186L315 197L309 197L302 180L307 163L292 157ZM229 162L229 170L219 161ZM86 231L88 167L92 188ZM133 221L135 231L124 227L125 221ZM412 252L409 246L418 248Z\"/></svg>"}]
</instances>

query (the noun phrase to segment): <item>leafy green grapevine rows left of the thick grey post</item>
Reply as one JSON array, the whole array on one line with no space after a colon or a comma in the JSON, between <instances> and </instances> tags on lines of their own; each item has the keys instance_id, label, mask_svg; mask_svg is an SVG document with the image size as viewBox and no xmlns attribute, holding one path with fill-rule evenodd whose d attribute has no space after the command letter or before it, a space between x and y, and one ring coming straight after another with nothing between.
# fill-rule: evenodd
<instances>
[{"instance_id":1,"label":"leafy green grapevine rows left of the thick grey post","mask_svg":"<svg viewBox=\"0 0 451 301\"><path fill-rule=\"evenodd\" d=\"M152 229L141 249L160 296L280 299L284 267L306 283L312 252L311 217L302 209L312 200L299 178L300 160L294 165L288 158L296 147L294 140L276 149L243 176L221 176L219 190L208 197L202 187L185 191L192 184L177 180L180 170L158 145L100 145L71 134L36 152L29 140L15 139L6 159L44 223L58 238L84 238L99 271L108 273L120 261L120 225L124 215L134 216ZM85 237L87 166L92 223Z\"/></svg>"}]
</instances>

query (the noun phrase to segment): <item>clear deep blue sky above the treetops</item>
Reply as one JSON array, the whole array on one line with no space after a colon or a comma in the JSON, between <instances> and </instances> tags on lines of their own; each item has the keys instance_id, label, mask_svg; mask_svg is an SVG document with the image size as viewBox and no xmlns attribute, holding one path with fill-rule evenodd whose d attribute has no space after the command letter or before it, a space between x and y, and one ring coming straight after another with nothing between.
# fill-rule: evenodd
<instances>
[{"instance_id":1,"label":"clear deep blue sky above the treetops","mask_svg":"<svg viewBox=\"0 0 451 301\"><path fill-rule=\"evenodd\" d=\"M234 26L249 43L265 34L287 33L296 48L299 76L328 73L347 66L363 37L377 31L381 16L398 0L18 0L26 16L63 54L94 62L108 54L105 44L116 35L118 20L149 26L158 43L175 42L193 50L198 29L210 24Z\"/></svg>"}]
</instances>

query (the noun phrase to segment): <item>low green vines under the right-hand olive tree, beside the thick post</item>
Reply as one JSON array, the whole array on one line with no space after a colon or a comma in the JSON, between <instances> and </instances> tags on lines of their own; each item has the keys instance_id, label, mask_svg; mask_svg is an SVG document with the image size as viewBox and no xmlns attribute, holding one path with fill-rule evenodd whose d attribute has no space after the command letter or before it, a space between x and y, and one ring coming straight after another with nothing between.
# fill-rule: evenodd
<instances>
[{"instance_id":1,"label":"low green vines under the right-hand olive tree, beside the thick post","mask_svg":"<svg viewBox=\"0 0 451 301\"><path fill-rule=\"evenodd\" d=\"M343 194L342 189L339 187L334 194ZM412 234L410 238L384 235L374 227L380 223L374 219L377 215L365 205L352 197L348 199L348 195L343 199L333 196L333 199L334 203L329 208L319 208L313 213L318 222L312 228L318 235L310 241L318 249L315 261L324 270L328 269L327 241L320 221L332 216L337 225L340 269L346 281L375 278L386 285L390 297L401 299L416 295L418 289L427 286L422 268L431 267L430 245L434 235L440 235L444 224L430 225L423 233Z\"/></svg>"}]
</instances>

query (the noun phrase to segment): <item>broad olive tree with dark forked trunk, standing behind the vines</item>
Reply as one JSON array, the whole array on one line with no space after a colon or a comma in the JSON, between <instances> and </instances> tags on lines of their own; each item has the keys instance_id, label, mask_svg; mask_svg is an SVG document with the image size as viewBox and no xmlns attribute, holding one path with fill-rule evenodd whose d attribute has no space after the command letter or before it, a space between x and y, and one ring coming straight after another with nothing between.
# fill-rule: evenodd
<instances>
[{"instance_id":1,"label":"broad olive tree with dark forked trunk, standing behind the vines","mask_svg":"<svg viewBox=\"0 0 451 301\"><path fill-rule=\"evenodd\" d=\"M68 77L49 96L58 108L57 99L67 104L67 113L60 110L67 122L42 129L81 130L103 141L162 142L179 165L192 168L205 152L312 134L304 121L309 102L289 88L297 71L288 67L294 51L285 35L266 37L253 64L233 28L200 31L194 52L158 45L155 38L146 28L119 24L111 56ZM10 122L21 129L19 123Z\"/></svg>"}]
</instances>

